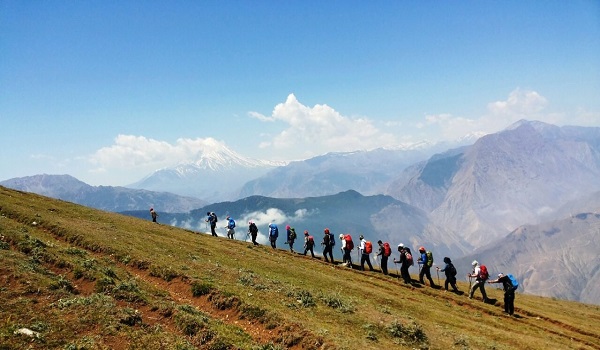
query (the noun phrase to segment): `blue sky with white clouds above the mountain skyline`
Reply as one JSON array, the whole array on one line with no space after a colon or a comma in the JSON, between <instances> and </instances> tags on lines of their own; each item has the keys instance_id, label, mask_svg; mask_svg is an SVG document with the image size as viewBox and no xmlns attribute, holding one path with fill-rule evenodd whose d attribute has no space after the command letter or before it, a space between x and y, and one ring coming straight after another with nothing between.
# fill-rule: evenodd
<instances>
[{"instance_id":1,"label":"blue sky with white clouds above the mountain skyline","mask_svg":"<svg viewBox=\"0 0 600 350\"><path fill-rule=\"evenodd\" d=\"M0 180L600 126L600 1L0 1Z\"/></svg>"}]
</instances>

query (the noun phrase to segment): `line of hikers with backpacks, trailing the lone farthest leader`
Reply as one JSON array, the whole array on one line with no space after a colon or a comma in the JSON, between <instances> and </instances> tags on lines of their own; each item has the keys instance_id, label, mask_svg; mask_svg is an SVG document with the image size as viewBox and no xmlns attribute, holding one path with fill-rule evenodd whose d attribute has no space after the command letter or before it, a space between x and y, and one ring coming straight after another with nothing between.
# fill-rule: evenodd
<instances>
[{"instance_id":1,"label":"line of hikers with backpacks, trailing the lone farthest leader","mask_svg":"<svg viewBox=\"0 0 600 350\"><path fill-rule=\"evenodd\" d=\"M217 215L214 212L207 212L206 222L210 224L211 234L213 236L217 236L215 232L216 224L218 222ZM234 239L235 235L235 220L230 216L227 216L227 238ZM295 253L294 251L294 243L298 239L296 234L296 230L290 225L285 226L286 229L286 241L285 244L288 245L291 253ZM268 240L273 249L277 248L277 239L279 237L279 228L277 224L271 222L268 225ZM248 221L248 234L246 236L246 241L249 237L252 239L252 244L260 245L257 241L258 235L258 227L256 223L252 220ZM352 236L350 234L340 234L340 249L342 251L342 265L346 267L352 268L352 251L354 250L354 241L352 240ZM365 271L365 264L368 266L369 271L374 271L373 265L371 264L370 256L373 253L373 244L371 241L365 239L363 235L359 235L359 246L357 249L357 256L360 257L360 270ZM382 242L381 240L377 241L377 245L379 246L379 250L375 254L375 259L381 258L380 267L381 272L384 275L388 275L388 259L392 255L391 246L388 242ZM335 264L335 260L333 259L333 247L335 246L335 238L331 233L329 228L325 228L323 230L323 238L321 241L321 246L323 247L323 258L325 262ZM312 236L308 230L304 231L304 246L303 252L300 253L302 255L307 255L310 252L310 255L313 258L316 258L315 252L315 237ZM400 258L396 260L394 258L394 264L400 264L399 276L402 278L404 283L412 284L412 278L410 276L409 269L411 266L414 266L415 259L413 258L412 251L409 247L405 246L403 243L398 244L398 252L400 253ZM448 291L448 288L452 288L452 292L454 293L462 293L458 287L456 286L456 275L457 270L452 260L449 257L444 257L444 267L440 268L436 266L436 272L438 276L439 283L439 273L443 272L445 275L444 281L444 289ZM426 250L424 246L419 247L419 255L416 259L417 265L419 266L419 283L422 285L426 285L425 279L429 282L429 286L432 288L441 288L441 285L438 286L434 283L433 278L431 276L431 268L433 267L433 253L430 250ZM472 263L472 271L467 274L467 278L469 278L469 298L473 298L474 293L479 290L481 292L481 296L484 302L489 302L487 297L487 293L485 291L486 283L502 283L504 289L504 307L505 313L509 315L513 315L514 313L514 299L515 299L515 291L518 288L519 284L514 278L514 276L507 274L499 274L498 278L495 280L488 281L489 273L485 265L480 265L478 261L473 261ZM473 284L473 280L475 283Z\"/></svg>"}]
</instances>

